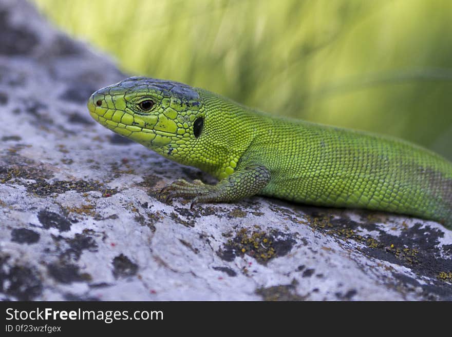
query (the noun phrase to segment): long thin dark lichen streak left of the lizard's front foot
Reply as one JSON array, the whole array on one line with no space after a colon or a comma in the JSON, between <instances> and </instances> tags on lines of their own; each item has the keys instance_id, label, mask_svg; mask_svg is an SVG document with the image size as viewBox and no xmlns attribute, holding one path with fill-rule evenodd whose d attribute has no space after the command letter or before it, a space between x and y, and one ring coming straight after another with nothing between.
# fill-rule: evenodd
<instances>
[{"instance_id":1,"label":"long thin dark lichen streak left of the lizard's front foot","mask_svg":"<svg viewBox=\"0 0 452 337\"><path fill-rule=\"evenodd\" d=\"M27 191L37 196L50 196L54 193L61 194L67 191L77 191L81 193L89 191L99 191L103 196L111 196L118 193L116 188L107 188L103 183L97 181L66 181L56 180L51 184L44 179L35 179L35 183L26 185Z\"/></svg>"}]
</instances>

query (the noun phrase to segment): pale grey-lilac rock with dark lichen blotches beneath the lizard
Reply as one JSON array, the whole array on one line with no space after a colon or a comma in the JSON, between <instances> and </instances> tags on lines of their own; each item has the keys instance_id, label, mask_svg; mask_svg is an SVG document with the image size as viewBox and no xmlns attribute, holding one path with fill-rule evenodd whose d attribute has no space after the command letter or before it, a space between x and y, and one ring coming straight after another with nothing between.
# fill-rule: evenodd
<instances>
[{"instance_id":1,"label":"pale grey-lilac rock with dark lichen blotches beneath the lizard","mask_svg":"<svg viewBox=\"0 0 452 337\"><path fill-rule=\"evenodd\" d=\"M91 120L126 77L24 1L0 4L0 298L452 300L452 231L263 197L165 204L211 181Z\"/></svg>"}]
</instances>

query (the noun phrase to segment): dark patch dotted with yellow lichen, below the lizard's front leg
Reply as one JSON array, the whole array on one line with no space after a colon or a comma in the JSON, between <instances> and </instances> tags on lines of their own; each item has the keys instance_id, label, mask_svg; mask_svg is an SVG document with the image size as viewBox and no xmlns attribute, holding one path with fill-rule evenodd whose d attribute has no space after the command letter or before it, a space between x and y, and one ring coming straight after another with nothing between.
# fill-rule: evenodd
<instances>
[{"instance_id":1,"label":"dark patch dotted with yellow lichen, below the lizard's front leg","mask_svg":"<svg viewBox=\"0 0 452 337\"><path fill-rule=\"evenodd\" d=\"M223 235L228 236L228 233ZM276 229L251 232L248 228L241 228L217 254L225 261L233 261L235 256L247 254L259 263L267 263L275 257L286 255L295 243L291 234Z\"/></svg>"}]
</instances>

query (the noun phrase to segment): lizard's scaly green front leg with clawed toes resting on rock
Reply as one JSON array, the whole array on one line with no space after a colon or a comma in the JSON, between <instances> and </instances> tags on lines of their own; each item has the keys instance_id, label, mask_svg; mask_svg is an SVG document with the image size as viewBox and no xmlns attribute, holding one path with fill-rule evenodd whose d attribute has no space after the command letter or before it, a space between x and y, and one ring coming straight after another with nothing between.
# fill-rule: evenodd
<instances>
[{"instance_id":1,"label":"lizard's scaly green front leg with clawed toes resting on rock","mask_svg":"<svg viewBox=\"0 0 452 337\"><path fill-rule=\"evenodd\" d=\"M270 181L270 171L265 166L250 165L238 169L220 180L216 185L206 185L200 180L189 183L183 179L164 187L161 193L168 192L166 200L175 197L191 197L195 204L207 202L230 202L257 194Z\"/></svg>"}]
</instances>

